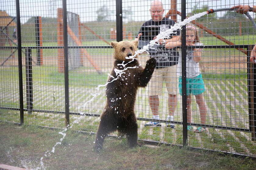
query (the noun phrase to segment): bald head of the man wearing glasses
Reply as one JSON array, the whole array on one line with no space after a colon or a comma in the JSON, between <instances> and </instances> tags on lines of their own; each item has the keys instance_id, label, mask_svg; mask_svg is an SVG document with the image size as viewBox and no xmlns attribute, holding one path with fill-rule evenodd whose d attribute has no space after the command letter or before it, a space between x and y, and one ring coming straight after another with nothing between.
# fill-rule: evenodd
<instances>
[{"instance_id":1,"label":"bald head of the man wearing glasses","mask_svg":"<svg viewBox=\"0 0 256 170\"><path fill-rule=\"evenodd\" d=\"M154 21L161 21L163 19L164 14L164 6L161 1L155 0L151 3L151 7L149 9L151 18Z\"/></svg>"}]
</instances>

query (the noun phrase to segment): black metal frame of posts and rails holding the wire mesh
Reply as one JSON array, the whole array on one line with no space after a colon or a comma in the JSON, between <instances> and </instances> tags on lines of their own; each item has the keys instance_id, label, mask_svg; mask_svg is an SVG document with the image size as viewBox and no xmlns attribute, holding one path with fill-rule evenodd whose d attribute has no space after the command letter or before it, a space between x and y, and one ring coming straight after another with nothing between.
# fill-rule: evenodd
<instances>
[{"instance_id":1,"label":"black metal frame of posts and rails holding the wire mesh","mask_svg":"<svg viewBox=\"0 0 256 170\"><path fill-rule=\"evenodd\" d=\"M68 126L70 124L69 122L69 115L80 115L80 113L73 113L69 112L69 69L68 69L68 49L89 49L89 48L112 48L110 46L68 46L68 32L67 32L67 5L66 0L62 0L62 9L63 9L63 39L64 39L64 46L30 46L30 47L24 47L21 46L21 27L20 27L20 1L16 0L16 14L17 14L17 35L18 35L18 46L17 47L1 47L1 49L17 49L18 50L18 68L19 68L19 91L20 91L20 107L19 108L9 108L9 107L0 107L1 109L12 109L12 110L20 110L20 125L24 123L24 111L37 111L37 112L48 112L48 113L56 113L56 114L65 114L65 124ZM181 13L182 13L182 21L186 19L186 0L181 1ZM122 0L116 0L116 31L117 31L117 38L116 41L122 41L123 40L123 20L122 20ZM38 18L37 18L38 20ZM39 24L37 22L37 24ZM38 29L38 28L37 28ZM182 70L182 82L183 82L183 95L187 96L187 90L186 90L186 28L185 26L182 27L182 64L183 64L183 70ZM39 41L39 39L37 39ZM249 52L251 51L253 45L228 45L228 46L204 46L204 48L244 48L247 51L247 82L248 82L248 108L249 108L249 127L250 129L242 129L242 128L235 128L235 127L224 127L224 126L214 126L214 125L208 125L208 124L195 124L195 123L187 123L187 98L182 97L182 102L184 103L182 106L182 122L178 121L170 121L171 123L175 124L182 124L183 125L183 146L187 146L187 140L188 140L188 132L187 132L187 125L194 125L194 126L203 126L203 127L212 127L212 128L218 128L218 129L225 129L225 130L235 130L235 131L246 131L252 133L252 140L255 140L255 134L256 134L256 65L253 65L249 63ZM196 48L201 48L199 46L196 46ZM31 49L64 49L64 75L65 75L65 112L56 112L53 110L34 110L33 109L33 77L32 77L32 63L31 63ZM27 87L27 108L24 108L23 106L23 78L22 78L22 50L26 51L26 87ZM91 114L84 114L88 116L92 116ZM93 116L99 117L100 114L94 114ZM152 119L148 118L140 118L138 117L137 120L141 121L152 121ZM161 122L165 122L165 120L160 120ZM152 142L152 141L151 141ZM159 143L159 142L158 142ZM193 148L193 147L192 147ZM208 149L209 150L209 149ZM227 153L227 152L224 152ZM236 154L234 154L236 155Z\"/></svg>"}]
</instances>

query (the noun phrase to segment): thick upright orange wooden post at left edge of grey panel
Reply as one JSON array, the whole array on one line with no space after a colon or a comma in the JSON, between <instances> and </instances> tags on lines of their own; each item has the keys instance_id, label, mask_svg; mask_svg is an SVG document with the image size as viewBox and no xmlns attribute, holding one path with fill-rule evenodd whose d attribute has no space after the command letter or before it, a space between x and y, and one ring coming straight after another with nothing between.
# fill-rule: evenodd
<instances>
[{"instance_id":1,"label":"thick upright orange wooden post at left edge of grey panel","mask_svg":"<svg viewBox=\"0 0 256 170\"><path fill-rule=\"evenodd\" d=\"M57 9L57 35L58 35L58 46L64 46L63 41L63 13L62 8ZM64 49L58 49L58 70L59 73L64 73Z\"/></svg>"}]
</instances>

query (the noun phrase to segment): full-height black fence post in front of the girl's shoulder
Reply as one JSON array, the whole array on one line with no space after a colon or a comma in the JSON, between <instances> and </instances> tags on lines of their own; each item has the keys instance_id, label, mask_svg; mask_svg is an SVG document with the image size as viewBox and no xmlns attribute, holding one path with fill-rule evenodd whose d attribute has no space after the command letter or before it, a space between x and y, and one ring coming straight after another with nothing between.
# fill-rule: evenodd
<instances>
[{"instance_id":1,"label":"full-height black fence post in front of the girl's shoulder","mask_svg":"<svg viewBox=\"0 0 256 170\"><path fill-rule=\"evenodd\" d=\"M181 1L181 21L186 19L186 0ZM186 63L186 25L181 27L181 76L182 76L182 128L183 146L187 145L187 63Z\"/></svg>"}]
</instances>

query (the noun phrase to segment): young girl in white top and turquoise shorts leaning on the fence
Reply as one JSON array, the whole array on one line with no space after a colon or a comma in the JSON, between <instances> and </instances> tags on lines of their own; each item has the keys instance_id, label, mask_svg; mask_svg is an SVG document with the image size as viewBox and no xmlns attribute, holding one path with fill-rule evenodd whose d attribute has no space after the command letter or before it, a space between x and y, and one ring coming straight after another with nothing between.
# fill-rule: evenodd
<instances>
[{"instance_id":1,"label":"young girl in white top and turquoise shorts leaning on the fence","mask_svg":"<svg viewBox=\"0 0 256 170\"><path fill-rule=\"evenodd\" d=\"M199 41L197 29L194 25L187 25L186 27L186 45L187 46L202 46ZM176 46L181 46L181 39L179 41L166 42L165 48L172 49ZM206 106L204 104L204 82L199 68L199 61L201 59L201 49L193 48L187 49L187 121L191 123L191 96L195 95L196 103L199 106L201 124L205 124ZM181 53L177 66L177 74L179 78L180 95L182 95L182 79L181 79ZM192 126L187 126L187 129L192 131ZM198 132L207 131L206 127L197 127Z\"/></svg>"}]
</instances>

